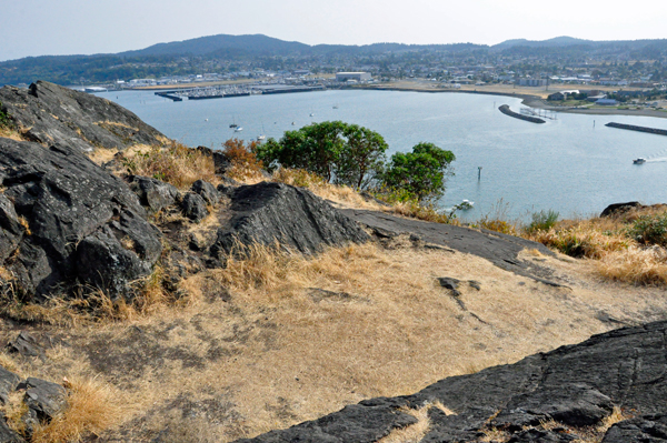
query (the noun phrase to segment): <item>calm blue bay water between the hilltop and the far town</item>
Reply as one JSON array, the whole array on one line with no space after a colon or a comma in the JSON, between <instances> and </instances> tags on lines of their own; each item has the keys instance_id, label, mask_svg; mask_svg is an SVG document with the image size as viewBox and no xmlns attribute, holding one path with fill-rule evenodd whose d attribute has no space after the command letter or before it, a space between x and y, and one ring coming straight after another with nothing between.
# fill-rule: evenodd
<instances>
[{"instance_id":1,"label":"calm blue bay water between the hilltop and the far town","mask_svg":"<svg viewBox=\"0 0 667 443\"><path fill-rule=\"evenodd\" d=\"M475 209L461 214L469 220L491 212L500 200L507 215L522 218L548 209L561 217L589 215L630 200L667 202L667 137L605 127L615 121L667 129L667 119L558 114L558 120L534 124L497 110L507 103L518 111L518 99L464 93L325 91L182 102L152 92L99 95L193 147L219 148L230 138L262 133L280 138L286 130L326 120L379 132L389 155L434 142L457 157L442 204L474 201ZM229 129L232 121L243 131ZM637 157L649 162L634 165Z\"/></svg>"}]
</instances>

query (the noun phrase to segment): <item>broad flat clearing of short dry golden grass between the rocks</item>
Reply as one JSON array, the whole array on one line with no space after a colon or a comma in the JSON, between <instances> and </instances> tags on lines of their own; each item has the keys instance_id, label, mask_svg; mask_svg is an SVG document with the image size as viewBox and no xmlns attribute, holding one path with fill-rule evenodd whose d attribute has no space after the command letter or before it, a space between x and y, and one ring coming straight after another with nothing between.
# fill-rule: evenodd
<instances>
[{"instance_id":1,"label":"broad flat clearing of short dry golden grass between the rocks","mask_svg":"<svg viewBox=\"0 0 667 443\"><path fill-rule=\"evenodd\" d=\"M557 274L560 266L570 272L583 265L544 259L540 265ZM181 285L192 290L187 305L122 322L50 328L70 345L48 351L46 364L21 365L33 376L113 381L131 405L121 425L129 434L116 441L151 440L169 424L167 416L178 424L196 407L190 440L181 441L228 442L579 342L610 328L597 320L599 306L624 320L667 309L664 293L650 288L627 291L578 283L585 272L573 275L569 291L461 253L366 244L305 259L258 248L245 261L230 258L228 269L188 278ZM476 280L481 291L462 288L462 311L437 276ZM222 288L229 291L225 301L211 298ZM315 296L311 288L330 292ZM141 363L142 355L159 359ZM176 405L180 397L186 406ZM137 421L141 431L131 431ZM176 433L171 441L179 439Z\"/></svg>"}]
</instances>

